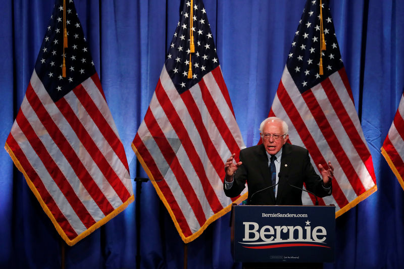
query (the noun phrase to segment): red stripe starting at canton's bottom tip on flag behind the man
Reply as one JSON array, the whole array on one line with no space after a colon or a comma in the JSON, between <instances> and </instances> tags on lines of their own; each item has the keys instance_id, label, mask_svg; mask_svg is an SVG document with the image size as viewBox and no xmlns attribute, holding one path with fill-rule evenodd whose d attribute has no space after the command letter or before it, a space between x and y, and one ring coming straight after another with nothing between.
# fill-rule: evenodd
<instances>
[{"instance_id":1,"label":"red stripe starting at canton's bottom tip on flag behind the man","mask_svg":"<svg viewBox=\"0 0 404 269\"><path fill-rule=\"evenodd\" d=\"M325 117L323 110L320 107L320 104L317 102L317 99L314 96L313 91L311 89L307 90L304 93L302 93L301 96L307 103L307 106L309 107L309 110L312 113L314 120L316 121L320 131L322 132L323 137L327 141L328 146L334 153L335 158L338 160L338 163L341 169L344 171L346 178L352 185L352 188L354 189L357 196L359 196L361 193L365 192L365 188L363 187L362 182L355 171L355 168L352 166L348 156L346 155L341 144L339 143L338 138L333 132L331 125L328 123L328 120ZM327 165L325 165L324 167L327 167Z\"/></svg>"}]
</instances>

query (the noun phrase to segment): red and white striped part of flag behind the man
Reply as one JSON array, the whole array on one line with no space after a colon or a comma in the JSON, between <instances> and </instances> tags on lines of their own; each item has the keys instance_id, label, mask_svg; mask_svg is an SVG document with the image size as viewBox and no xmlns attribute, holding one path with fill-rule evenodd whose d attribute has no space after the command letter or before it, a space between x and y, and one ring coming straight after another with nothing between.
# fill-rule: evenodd
<instances>
[{"instance_id":1,"label":"red and white striped part of flag behind the man","mask_svg":"<svg viewBox=\"0 0 404 269\"><path fill-rule=\"evenodd\" d=\"M372 156L343 68L301 94L285 67L269 116L286 121L290 142L309 150L313 167L331 161L332 196L319 203L335 204L336 216L376 190ZM306 193L302 198L304 204L314 202Z\"/></svg>"}]
</instances>

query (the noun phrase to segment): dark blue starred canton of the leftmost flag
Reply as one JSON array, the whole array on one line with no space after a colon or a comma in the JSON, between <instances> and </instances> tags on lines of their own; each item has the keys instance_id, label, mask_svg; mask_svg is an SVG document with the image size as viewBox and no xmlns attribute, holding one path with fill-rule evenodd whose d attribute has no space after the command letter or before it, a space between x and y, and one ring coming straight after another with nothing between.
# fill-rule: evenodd
<instances>
[{"instance_id":1,"label":"dark blue starred canton of the leftmost flag","mask_svg":"<svg viewBox=\"0 0 404 269\"><path fill-rule=\"evenodd\" d=\"M73 1L66 0L66 77L63 64L63 0L57 0L35 64L35 71L56 102L95 73L94 63Z\"/></svg>"}]
</instances>

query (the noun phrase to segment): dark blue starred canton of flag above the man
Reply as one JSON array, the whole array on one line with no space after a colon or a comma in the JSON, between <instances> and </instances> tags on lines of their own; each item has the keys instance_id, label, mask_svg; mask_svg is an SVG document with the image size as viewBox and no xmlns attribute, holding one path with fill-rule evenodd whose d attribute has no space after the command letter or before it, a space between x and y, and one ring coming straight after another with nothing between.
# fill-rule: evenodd
<instances>
[{"instance_id":1,"label":"dark blue starred canton of flag above the man","mask_svg":"<svg viewBox=\"0 0 404 269\"><path fill-rule=\"evenodd\" d=\"M343 67L328 1L323 0L326 50L322 52L324 74L319 74L321 42L319 2L319 0L306 2L286 62L287 69L300 93L322 82Z\"/></svg>"}]
</instances>

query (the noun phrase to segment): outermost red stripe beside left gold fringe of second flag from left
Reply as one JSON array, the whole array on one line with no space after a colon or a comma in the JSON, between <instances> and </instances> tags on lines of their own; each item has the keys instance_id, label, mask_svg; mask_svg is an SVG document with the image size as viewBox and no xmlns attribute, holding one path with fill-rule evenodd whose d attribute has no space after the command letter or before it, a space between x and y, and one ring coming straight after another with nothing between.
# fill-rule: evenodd
<instances>
[{"instance_id":1,"label":"outermost red stripe beside left gold fringe of second flag from left","mask_svg":"<svg viewBox=\"0 0 404 269\"><path fill-rule=\"evenodd\" d=\"M185 237L192 235L191 229L189 228L188 223L186 222L185 216L179 207L177 200L175 199L173 193L171 192L170 187L167 185L167 182L164 180L163 175L160 173L159 168L157 167L153 156L150 155L150 152L145 147L143 142L141 141L139 134L136 133L135 138L133 139L133 144L135 145L138 153L142 156L144 163L146 164L148 170L153 175L155 182L157 183L160 191L164 194L164 198L167 203L170 205L170 208L174 214L175 220L178 222L178 225L184 234Z\"/></svg>"}]
</instances>

